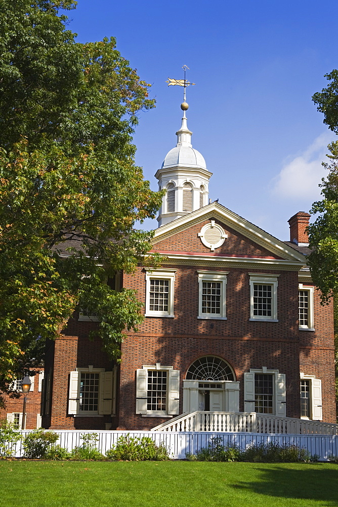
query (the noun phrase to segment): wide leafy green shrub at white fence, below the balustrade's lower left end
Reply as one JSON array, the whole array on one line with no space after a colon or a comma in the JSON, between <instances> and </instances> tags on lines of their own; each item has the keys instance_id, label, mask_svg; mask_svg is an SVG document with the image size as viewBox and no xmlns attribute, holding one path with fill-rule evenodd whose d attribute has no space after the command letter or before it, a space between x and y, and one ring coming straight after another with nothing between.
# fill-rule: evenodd
<instances>
[{"instance_id":1,"label":"wide leafy green shrub at white fence, below the balustrade's lower left end","mask_svg":"<svg viewBox=\"0 0 338 507\"><path fill-rule=\"evenodd\" d=\"M106 452L108 459L126 461L165 461L169 459L163 445L157 446L149 437L133 438L130 434L121 436L116 447Z\"/></svg>"}]
</instances>

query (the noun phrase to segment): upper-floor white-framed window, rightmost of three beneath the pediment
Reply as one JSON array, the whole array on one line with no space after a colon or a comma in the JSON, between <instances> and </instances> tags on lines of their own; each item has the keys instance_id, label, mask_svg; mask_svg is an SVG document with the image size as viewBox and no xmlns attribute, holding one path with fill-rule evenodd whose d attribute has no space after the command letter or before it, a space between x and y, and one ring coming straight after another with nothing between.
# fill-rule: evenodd
<instances>
[{"instance_id":1,"label":"upper-floor white-framed window, rightmost of three beneath the pediment","mask_svg":"<svg viewBox=\"0 0 338 507\"><path fill-rule=\"evenodd\" d=\"M278 276L268 273L249 273L250 320L278 322L277 286Z\"/></svg>"}]
</instances>

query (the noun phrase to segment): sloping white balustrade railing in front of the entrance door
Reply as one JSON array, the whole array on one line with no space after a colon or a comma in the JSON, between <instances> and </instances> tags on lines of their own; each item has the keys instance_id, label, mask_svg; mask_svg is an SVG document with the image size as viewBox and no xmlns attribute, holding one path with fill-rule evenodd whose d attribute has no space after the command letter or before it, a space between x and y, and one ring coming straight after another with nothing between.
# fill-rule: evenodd
<instances>
[{"instance_id":1,"label":"sloping white balustrade railing in front of the entrance door","mask_svg":"<svg viewBox=\"0 0 338 507\"><path fill-rule=\"evenodd\" d=\"M221 431L273 434L336 435L338 424L277 417L256 412L206 412L181 414L152 431Z\"/></svg>"}]
</instances>

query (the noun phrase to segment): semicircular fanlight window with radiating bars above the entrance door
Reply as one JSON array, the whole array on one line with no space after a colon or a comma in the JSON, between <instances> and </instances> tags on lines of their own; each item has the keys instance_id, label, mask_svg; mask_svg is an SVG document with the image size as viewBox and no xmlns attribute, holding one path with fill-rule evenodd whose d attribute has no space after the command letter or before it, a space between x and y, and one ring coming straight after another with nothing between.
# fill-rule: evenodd
<instances>
[{"instance_id":1,"label":"semicircular fanlight window with radiating bars above the entrance door","mask_svg":"<svg viewBox=\"0 0 338 507\"><path fill-rule=\"evenodd\" d=\"M235 380L230 366L220 357L206 355L200 357L187 371L187 380Z\"/></svg>"}]
</instances>

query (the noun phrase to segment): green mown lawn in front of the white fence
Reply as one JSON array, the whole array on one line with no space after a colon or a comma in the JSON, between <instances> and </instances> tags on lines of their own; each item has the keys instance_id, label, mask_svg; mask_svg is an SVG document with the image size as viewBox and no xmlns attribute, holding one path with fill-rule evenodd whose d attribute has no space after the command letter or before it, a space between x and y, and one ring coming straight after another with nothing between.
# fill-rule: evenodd
<instances>
[{"instance_id":1,"label":"green mown lawn in front of the white fence","mask_svg":"<svg viewBox=\"0 0 338 507\"><path fill-rule=\"evenodd\" d=\"M338 506L338 465L0 461L1 507Z\"/></svg>"}]
</instances>

